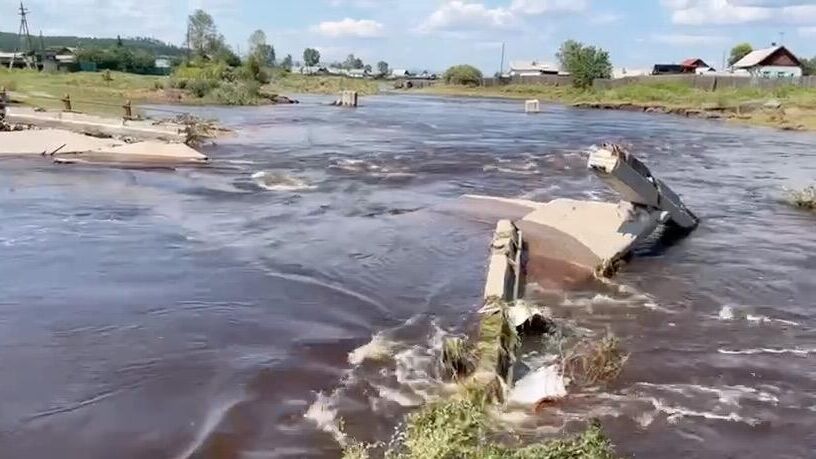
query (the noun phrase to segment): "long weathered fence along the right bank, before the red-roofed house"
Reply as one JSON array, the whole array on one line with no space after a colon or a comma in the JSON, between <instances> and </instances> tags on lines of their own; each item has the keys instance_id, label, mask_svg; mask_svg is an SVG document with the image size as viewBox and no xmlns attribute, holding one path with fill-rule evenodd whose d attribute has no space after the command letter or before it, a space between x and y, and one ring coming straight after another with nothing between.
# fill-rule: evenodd
<instances>
[{"instance_id":1,"label":"long weathered fence along the right bank, before the red-roofed house","mask_svg":"<svg viewBox=\"0 0 816 459\"><path fill-rule=\"evenodd\" d=\"M783 86L800 86L816 88L816 76L800 78L754 78L736 75L644 75L617 78L614 80L596 79L595 89L617 89L632 84L678 84L704 91L718 89L760 88L774 89Z\"/></svg>"}]
</instances>

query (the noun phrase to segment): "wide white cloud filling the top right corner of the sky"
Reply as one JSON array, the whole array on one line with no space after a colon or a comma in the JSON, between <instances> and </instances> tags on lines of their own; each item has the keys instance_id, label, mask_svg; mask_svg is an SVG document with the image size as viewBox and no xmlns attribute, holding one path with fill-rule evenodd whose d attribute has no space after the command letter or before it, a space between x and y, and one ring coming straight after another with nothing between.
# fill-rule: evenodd
<instances>
[{"instance_id":1,"label":"wide white cloud filling the top right corner of the sky","mask_svg":"<svg viewBox=\"0 0 816 459\"><path fill-rule=\"evenodd\" d=\"M672 22L683 25L816 23L813 0L662 0L662 4L672 11Z\"/></svg>"}]
</instances>

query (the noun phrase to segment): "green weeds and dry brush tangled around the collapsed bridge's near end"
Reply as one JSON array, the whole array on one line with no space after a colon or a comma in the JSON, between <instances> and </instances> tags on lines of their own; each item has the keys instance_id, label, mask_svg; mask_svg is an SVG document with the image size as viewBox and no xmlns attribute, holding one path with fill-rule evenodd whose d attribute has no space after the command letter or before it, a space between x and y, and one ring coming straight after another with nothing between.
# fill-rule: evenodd
<instances>
[{"instance_id":1,"label":"green weeds and dry brush tangled around the collapsed bridge's near end","mask_svg":"<svg viewBox=\"0 0 816 459\"><path fill-rule=\"evenodd\" d=\"M504 386L499 381L515 361L520 337L507 319L510 305L489 300L481 313L475 344L462 338L443 343L442 363L459 382L459 390L423 406L406 416L389 445L351 442L343 458L364 459L375 452L388 459L612 459L614 449L600 423L591 421L578 435L527 445L506 435L491 413L497 394ZM565 336L561 327L549 328L547 350L560 354L565 373L579 387L597 386L616 378L627 355L617 338L600 340ZM569 344L566 352L565 344ZM550 346L552 345L552 346ZM467 377L470 375L471 377ZM501 440L500 440L501 439Z\"/></svg>"}]
</instances>

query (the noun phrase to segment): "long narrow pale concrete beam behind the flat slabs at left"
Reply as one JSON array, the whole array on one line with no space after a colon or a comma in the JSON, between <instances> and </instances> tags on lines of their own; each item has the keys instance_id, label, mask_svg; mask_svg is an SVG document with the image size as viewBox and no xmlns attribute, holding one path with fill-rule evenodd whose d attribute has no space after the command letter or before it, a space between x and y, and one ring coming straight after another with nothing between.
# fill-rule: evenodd
<instances>
[{"instance_id":1,"label":"long narrow pale concrete beam behind the flat slabs at left","mask_svg":"<svg viewBox=\"0 0 816 459\"><path fill-rule=\"evenodd\" d=\"M40 128L68 129L95 136L129 137L134 140L183 142L187 139L186 127L180 124L105 118L74 112L43 112L28 107L8 107L6 121Z\"/></svg>"}]
</instances>

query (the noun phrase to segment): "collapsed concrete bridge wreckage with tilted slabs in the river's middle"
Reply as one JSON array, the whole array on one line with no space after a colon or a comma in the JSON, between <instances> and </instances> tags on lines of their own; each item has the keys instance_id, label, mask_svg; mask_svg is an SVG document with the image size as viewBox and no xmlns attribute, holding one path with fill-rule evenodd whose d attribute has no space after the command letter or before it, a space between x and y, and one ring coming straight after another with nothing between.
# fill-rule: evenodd
<instances>
[{"instance_id":1,"label":"collapsed concrete bridge wreckage with tilted slabs in the river's middle","mask_svg":"<svg viewBox=\"0 0 816 459\"><path fill-rule=\"evenodd\" d=\"M553 387L553 376L561 381L554 367L514 380L519 335L540 334L546 328L542 324L551 319L545 317L545 311L520 301L528 285L563 291L592 278L609 277L635 245L646 241L658 227L685 235L699 224L665 182L621 147L605 145L591 153L587 167L620 195L618 202L555 199L539 203L467 196L475 208L501 208L519 216L496 225L484 306L479 311L476 363L468 376L495 401L535 404L554 394L566 395L563 383ZM462 365L454 362L450 366Z\"/></svg>"}]
</instances>

